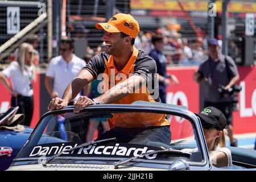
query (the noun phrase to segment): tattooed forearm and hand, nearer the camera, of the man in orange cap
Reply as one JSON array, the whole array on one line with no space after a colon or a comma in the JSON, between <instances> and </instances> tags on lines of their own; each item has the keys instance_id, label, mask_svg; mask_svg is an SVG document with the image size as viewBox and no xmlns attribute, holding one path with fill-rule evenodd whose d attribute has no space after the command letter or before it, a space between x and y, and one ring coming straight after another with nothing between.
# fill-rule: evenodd
<instances>
[{"instance_id":1,"label":"tattooed forearm and hand, nearer the camera, of the man in orange cap","mask_svg":"<svg viewBox=\"0 0 256 182\"><path fill-rule=\"evenodd\" d=\"M113 88L95 99L98 100L100 104L110 104L127 96L129 93L133 93L134 90L141 88L145 84L146 80L144 80L144 78L138 75L133 75L127 80L113 86ZM74 112L79 113L80 110L84 109L86 106L93 104L96 104L93 100L88 97L81 96L79 100L74 103Z\"/></svg>"}]
</instances>

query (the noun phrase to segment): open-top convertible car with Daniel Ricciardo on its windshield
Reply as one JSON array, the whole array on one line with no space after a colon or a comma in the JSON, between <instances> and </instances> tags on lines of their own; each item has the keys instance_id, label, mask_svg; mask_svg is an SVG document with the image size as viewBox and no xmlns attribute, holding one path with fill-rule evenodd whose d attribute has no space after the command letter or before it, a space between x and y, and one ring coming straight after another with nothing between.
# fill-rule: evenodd
<instances>
[{"instance_id":1,"label":"open-top convertible car with Daniel Ricciardo on its windshield","mask_svg":"<svg viewBox=\"0 0 256 182\"><path fill-rule=\"evenodd\" d=\"M174 118L179 122L173 122ZM168 121L171 137L168 141L159 137L130 140L113 135L86 141L85 123L102 119L119 123L120 135L135 125ZM60 125L64 125L61 130ZM196 150L183 150L187 148ZM9 170L256 170L256 151L229 148L233 166L214 167L200 119L185 106L137 101L91 105L78 114L73 113L73 106L67 106L43 115Z\"/></svg>"}]
</instances>

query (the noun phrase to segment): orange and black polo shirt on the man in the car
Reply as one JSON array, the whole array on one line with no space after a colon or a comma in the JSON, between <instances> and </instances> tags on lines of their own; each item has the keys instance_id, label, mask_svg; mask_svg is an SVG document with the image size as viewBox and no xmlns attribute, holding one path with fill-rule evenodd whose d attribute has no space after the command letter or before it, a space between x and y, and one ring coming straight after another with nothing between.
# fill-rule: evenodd
<instances>
[{"instance_id":1,"label":"orange and black polo shirt on the man in the car","mask_svg":"<svg viewBox=\"0 0 256 182\"><path fill-rule=\"evenodd\" d=\"M117 85L118 82L122 82L129 78L131 75L138 75L143 77L147 81L146 92L142 92L142 88L133 93L129 93L127 96L121 98L119 101L113 104L131 104L134 101L148 101L148 102L160 102L158 94L158 82L156 79L156 63L150 56L146 55L143 51L138 51L135 47L133 54L129 61L121 71L117 71L115 68L112 55L108 55L102 52L99 55L95 55L90 59L89 63L83 68L92 73L96 79L101 73L105 73L108 79L104 79L104 87L110 88L113 85ZM126 78L123 80L118 78L119 73L123 73ZM108 80L108 81L106 81ZM157 84L157 85L156 85ZM152 87L152 88L149 88ZM153 92L153 91L156 91ZM170 123L165 119L165 114L149 114L149 113L135 113L126 115L125 113L114 114L113 118L109 118L110 129L113 127L147 127L147 126L166 126ZM126 115L126 117L123 117Z\"/></svg>"}]
</instances>

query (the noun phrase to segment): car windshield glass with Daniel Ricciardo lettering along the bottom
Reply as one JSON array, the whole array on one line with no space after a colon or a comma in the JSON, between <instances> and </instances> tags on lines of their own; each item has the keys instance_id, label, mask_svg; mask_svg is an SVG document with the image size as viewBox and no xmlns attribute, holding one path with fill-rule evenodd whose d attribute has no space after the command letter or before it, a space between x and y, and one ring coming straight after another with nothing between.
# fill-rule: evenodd
<instances>
[{"instance_id":1,"label":"car windshield glass with Daniel Ricciardo lettering along the bottom","mask_svg":"<svg viewBox=\"0 0 256 182\"><path fill-rule=\"evenodd\" d=\"M93 140L116 139L69 150L90 142L86 139L92 130L90 125L97 122L106 124L115 130L115 133L108 134L108 131L102 133L95 130L91 132ZM158 126L159 123L162 126ZM143 135L146 137L141 139ZM93 160L98 164L116 163L146 152L154 153L170 148L181 152L145 155L136 160L171 164L174 160L184 159L188 163L202 163L203 154L198 138L195 123L180 115L152 110L109 108L84 110L75 114L72 109L66 109L44 115L15 160L33 160L38 163L38 159L42 157L49 159L62 152L56 159L51 160L51 163L92 163ZM191 152L191 155L185 155L187 152Z\"/></svg>"}]
</instances>

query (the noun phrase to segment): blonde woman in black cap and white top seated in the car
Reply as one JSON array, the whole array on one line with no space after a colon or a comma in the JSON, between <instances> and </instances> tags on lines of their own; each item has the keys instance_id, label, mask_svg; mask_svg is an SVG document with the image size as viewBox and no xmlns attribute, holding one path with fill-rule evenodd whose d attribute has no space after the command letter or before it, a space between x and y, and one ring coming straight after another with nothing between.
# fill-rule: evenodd
<instances>
[{"instance_id":1,"label":"blonde woman in black cap and white top seated in the car","mask_svg":"<svg viewBox=\"0 0 256 182\"><path fill-rule=\"evenodd\" d=\"M203 126L210 162L215 167L232 167L231 151L226 148L226 118L216 107L205 107L197 114Z\"/></svg>"}]
</instances>

